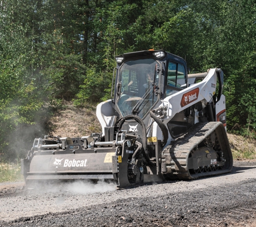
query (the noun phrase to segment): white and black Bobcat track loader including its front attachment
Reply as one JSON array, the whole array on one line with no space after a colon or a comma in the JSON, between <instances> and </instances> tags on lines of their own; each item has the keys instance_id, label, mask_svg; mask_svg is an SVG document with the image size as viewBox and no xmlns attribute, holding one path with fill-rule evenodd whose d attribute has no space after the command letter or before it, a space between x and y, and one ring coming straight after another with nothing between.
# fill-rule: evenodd
<instances>
[{"instance_id":1,"label":"white and black Bobcat track loader including its front attachment","mask_svg":"<svg viewBox=\"0 0 256 227\"><path fill-rule=\"evenodd\" d=\"M26 182L104 179L126 188L231 172L221 69L188 75L182 58L153 49L115 59L112 99L96 109L102 132L34 139L22 160Z\"/></svg>"}]
</instances>

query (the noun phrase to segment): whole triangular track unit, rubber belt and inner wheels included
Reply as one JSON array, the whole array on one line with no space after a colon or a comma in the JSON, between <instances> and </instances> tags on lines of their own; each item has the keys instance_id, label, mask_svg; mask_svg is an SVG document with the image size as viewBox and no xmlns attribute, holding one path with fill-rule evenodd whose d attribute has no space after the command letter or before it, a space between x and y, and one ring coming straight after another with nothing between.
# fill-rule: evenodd
<instances>
[{"instance_id":1,"label":"whole triangular track unit, rubber belt and inner wheels included","mask_svg":"<svg viewBox=\"0 0 256 227\"><path fill-rule=\"evenodd\" d=\"M226 131L219 122L196 124L175 145L167 146L162 158L164 176L170 180L225 174L233 166Z\"/></svg>"}]
</instances>

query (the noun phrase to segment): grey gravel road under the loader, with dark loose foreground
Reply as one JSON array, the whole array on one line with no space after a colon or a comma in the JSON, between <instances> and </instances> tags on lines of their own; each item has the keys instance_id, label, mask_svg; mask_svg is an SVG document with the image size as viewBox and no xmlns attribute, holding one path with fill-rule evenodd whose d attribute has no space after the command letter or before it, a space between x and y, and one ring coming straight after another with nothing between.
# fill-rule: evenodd
<instances>
[{"instance_id":1,"label":"grey gravel road under the loader, with dark loose foreground","mask_svg":"<svg viewBox=\"0 0 256 227\"><path fill-rule=\"evenodd\" d=\"M227 175L132 189L70 183L22 189L0 184L0 226L256 227L256 162Z\"/></svg>"}]
</instances>

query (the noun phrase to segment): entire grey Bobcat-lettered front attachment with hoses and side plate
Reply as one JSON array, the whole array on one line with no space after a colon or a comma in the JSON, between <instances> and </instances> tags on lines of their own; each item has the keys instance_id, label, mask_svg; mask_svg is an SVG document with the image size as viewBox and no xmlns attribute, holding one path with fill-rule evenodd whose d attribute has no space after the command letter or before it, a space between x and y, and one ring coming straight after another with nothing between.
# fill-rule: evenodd
<instances>
[{"instance_id":1,"label":"entire grey Bobcat-lettered front attachment with hoses and side plate","mask_svg":"<svg viewBox=\"0 0 256 227\"><path fill-rule=\"evenodd\" d=\"M113 180L119 188L143 182L140 136L106 127L108 135L81 138L36 138L22 159L25 181Z\"/></svg>"}]
</instances>

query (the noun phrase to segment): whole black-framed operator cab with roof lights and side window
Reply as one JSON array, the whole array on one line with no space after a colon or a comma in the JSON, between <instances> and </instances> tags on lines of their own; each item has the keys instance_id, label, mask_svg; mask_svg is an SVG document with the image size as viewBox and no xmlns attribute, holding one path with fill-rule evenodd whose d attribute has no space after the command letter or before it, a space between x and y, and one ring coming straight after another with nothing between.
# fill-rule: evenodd
<instances>
[{"instance_id":1,"label":"whole black-framed operator cab with roof lights and side window","mask_svg":"<svg viewBox=\"0 0 256 227\"><path fill-rule=\"evenodd\" d=\"M186 62L174 54L149 50L122 54L115 59L112 101L120 118L137 115L148 125L150 110L157 108L165 97L188 87ZM140 131L137 126L134 122L126 127Z\"/></svg>"}]
</instances>

